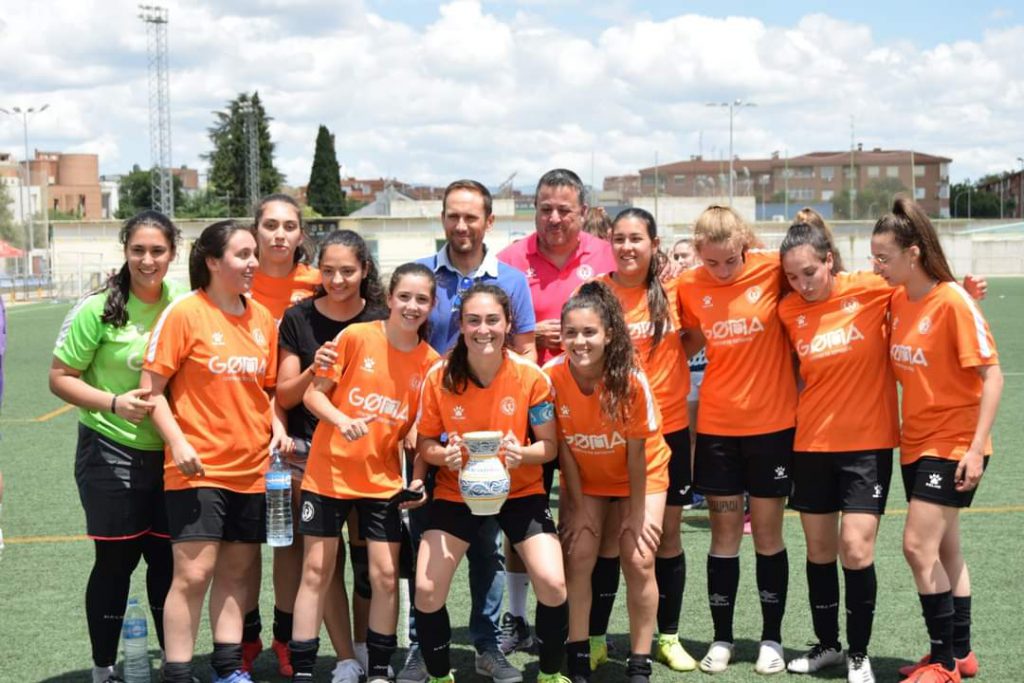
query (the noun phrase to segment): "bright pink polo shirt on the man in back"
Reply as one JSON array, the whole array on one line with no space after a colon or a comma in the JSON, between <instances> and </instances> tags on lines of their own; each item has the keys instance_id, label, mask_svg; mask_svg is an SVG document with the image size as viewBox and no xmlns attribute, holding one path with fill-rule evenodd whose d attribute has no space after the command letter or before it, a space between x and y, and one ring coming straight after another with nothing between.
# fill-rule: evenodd
<instances>
[{"instance_id":1,"label":"bright pink polo shirt on the man in back","mask_svg":"<svg viewBox=\"0 0 1024 683\"><path fill-rule=\"evenodd\" d=\"M580 246L575 253L562 268L556 267L541 254L537 248L537 232L500 251L498 260L526 274L538 322L558 319L562 314L562 305L582 284L615 269L611 245L584 231L580 232ZM538 353L541 365L556 355L540 348Z\"/></svg>"}]
</instances>

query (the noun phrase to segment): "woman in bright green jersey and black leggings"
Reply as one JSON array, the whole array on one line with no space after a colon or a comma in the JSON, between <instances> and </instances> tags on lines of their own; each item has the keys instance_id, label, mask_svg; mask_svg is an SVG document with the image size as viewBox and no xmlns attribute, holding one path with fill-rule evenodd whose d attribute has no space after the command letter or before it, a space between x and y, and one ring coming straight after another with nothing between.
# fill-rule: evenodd
<instances>
[{"instance_id":1,"label":"woman in bright green jersey and black leggings","mask_svg":"<svg viewBox=\"0 0 1024 683\"><path fill-rule=\"evenodd\" d=\"M164 509L164 443L138 389L150 332L171 299L185 291L165 282L180 232L144 211L121 228L125 263L65 319L50 366L50 391L79 408L75 479L95 562L85 590L93 683L120 681L121 622L131 574L141 557L150 609L164 646L164 598L171 547Z\"/></svg>"}]
</instances>

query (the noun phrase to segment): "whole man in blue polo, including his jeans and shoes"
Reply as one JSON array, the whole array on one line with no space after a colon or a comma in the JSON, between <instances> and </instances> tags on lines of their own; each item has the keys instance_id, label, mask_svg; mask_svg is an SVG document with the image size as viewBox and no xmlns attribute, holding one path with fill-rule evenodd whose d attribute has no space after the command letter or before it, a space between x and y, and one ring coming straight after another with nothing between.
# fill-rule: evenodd
<instances>
[{"instance_id":1,"label":"whole man in blue polo, including his jeans and shoes","mask_svg":"<svg viewBox=\"0 0 1024 683\"><path fill-rule=\"evenodd\" d=\"M444 189L441 222L446 242L436 254L421 258L437 278L437 297L430 313L430 345L445 353L459 336L459 306L462 295L476 283L498 285L512 304L512 348L537 360L534 345L534 303L526 276L501 263L488 252L483 238L495 224L490 191L475 180L456 180ZM414 548L423 530L424 508L411 511L410 526ZM500 528L492 517L469 546L469 589L472 599L469 633L476 648L476 673L494 683L520 683L522 673L509 664L498 646L499 620L505 589L505 557ZM410 581L410 586L415 582ZM412 593L412 590L410 591ZM417 646L416 625L410 614L411 648L397 683L424 683L427 670Z\"/></svg>"}]
</instances>

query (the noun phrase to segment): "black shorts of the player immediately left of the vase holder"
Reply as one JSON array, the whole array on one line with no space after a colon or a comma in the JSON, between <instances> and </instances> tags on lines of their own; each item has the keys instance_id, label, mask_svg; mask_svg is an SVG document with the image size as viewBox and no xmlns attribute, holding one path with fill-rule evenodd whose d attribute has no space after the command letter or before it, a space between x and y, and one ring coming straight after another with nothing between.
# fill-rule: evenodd
<instances>
[{"instance_id":1,"label":"black shorts of the player immediately left of the vase holder","mask_svg":"<svg viewBox=\"0 0 1024 683\"><path fill-rule=\"evenodd\" d=\"M359 537L367 541L399 543L401 541L401 517L398 508L387 499L332 498L310 490L302 492L299 506L299 533L335 538L341 536L341 527L348 519L348 513L355 508L359 518Z\"/></svg>"}]
</instances>

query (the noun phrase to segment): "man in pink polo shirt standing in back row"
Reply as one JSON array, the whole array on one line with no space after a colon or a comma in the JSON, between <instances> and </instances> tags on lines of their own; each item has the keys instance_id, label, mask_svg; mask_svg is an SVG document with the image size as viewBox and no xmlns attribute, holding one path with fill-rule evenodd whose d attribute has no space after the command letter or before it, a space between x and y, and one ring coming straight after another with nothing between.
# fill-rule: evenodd
<instances>
[{"instance_id":1,"label":"man in pink polo shirt standing in back row","mask_svg":"<svg viewBox=\"0 0 1024 683\"><path fill-rule=\"evenodd\" d=\"M614 270L615 257L606 241L583 231L584 186L572 171L556 168L541 176L534 206L537 231L503 249L498 260L526 274L537 315L538 361L543 365L562 352L562 304L583 283Z\"/></svg>"}]
</instances>

